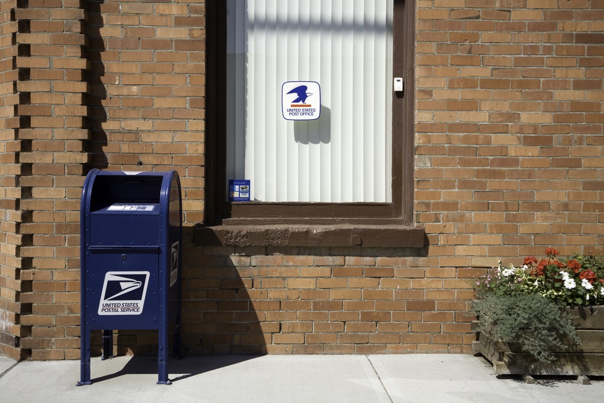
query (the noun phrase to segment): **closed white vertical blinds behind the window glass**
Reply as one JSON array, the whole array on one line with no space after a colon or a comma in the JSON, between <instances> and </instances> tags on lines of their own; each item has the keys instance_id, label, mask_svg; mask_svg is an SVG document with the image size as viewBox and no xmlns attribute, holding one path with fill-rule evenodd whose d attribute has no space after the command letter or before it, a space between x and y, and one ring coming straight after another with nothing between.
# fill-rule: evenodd
<instances>
[{"instance_id":1,"label":"closed white vertical blinds behind the window glass","mask_svg":"<svg viewBox=\"0 0 604 403\"><path fill-rule=\"evenodd\" d=\"M263 202L390 202L393 0L228 0L226 179ZM285 120L281 86L321 86Z\"/></svg>"}]
</instances>

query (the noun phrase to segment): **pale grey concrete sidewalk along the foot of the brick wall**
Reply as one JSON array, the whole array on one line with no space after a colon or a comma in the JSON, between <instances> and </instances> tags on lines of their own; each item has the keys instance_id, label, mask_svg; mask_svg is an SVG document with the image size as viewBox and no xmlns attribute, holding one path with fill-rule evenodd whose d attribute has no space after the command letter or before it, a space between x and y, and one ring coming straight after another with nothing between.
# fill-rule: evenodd
<instances>
[{"instance_id":1,"label":"pale grey concrete sidewalk along the foot of the brick wall","mask_svg":"<svg viewBox=\"0 0 604 403\"><path fill-rule=\"evenodd\" d=\"M152 357L94 358L94 383L76 387L79 361L0 356L0 401L566 403L604 395L604 381L498 379L487 361L471 355L191 356L173 359L169 369L173 384L156 385Z\"/></svg>"}]
</instances>

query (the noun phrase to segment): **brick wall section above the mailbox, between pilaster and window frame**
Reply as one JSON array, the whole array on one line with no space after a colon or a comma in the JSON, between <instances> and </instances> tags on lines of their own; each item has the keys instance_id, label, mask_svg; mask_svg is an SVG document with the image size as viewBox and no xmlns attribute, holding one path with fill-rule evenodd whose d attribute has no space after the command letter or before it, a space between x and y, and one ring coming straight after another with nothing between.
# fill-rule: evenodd
<instances>
[{"instance_id":1,"label":"brick wall section above the mailbox, between pilaster and window frame","mask_svg":"<svg viewBox=\"0 0 604 403\"><path fill-rule=\"evenodd\" d=\"M203 221L204 2L88 1L91 166L181 176Z\"/></svg>"}]
</instances>

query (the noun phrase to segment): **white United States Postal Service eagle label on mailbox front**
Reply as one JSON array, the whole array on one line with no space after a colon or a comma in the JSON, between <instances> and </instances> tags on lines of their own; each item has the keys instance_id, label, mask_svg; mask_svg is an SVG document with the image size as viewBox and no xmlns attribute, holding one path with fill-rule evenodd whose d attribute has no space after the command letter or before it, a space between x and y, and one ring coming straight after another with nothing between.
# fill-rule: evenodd
<instances>
[{"instance_id":1,"label":"white United States Postal Service eagle label on mailbox front","mask_svg":"<svg viewBox=\"0 0 604 403\"><path fill-rule=\"evenodd\" d=\"M98 314L140 315L143 313L148 283L148 271L108 271Z\"/></svg>"}]
</instances>

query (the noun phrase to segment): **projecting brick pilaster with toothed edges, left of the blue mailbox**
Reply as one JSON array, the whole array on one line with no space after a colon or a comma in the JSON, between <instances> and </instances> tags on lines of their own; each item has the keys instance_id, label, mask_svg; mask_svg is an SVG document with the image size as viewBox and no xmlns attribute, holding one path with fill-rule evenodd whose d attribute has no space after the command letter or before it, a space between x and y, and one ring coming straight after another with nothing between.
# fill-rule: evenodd
<instances>
[{"instance_id":1,"label":"projecting brick pilaster with toothed edges, left of the blue mailbox","mask_svg":"<svg viewBox=\"0 0 604 403\"><path fill-rule=\"evenodd\" d=\"M17 8L22 143L21 278L31 283L21 318L34 359L76 358L79 334L79 199L85 126L85 11L79 0L36 1Z\"/></svg>"}]
</instances>

